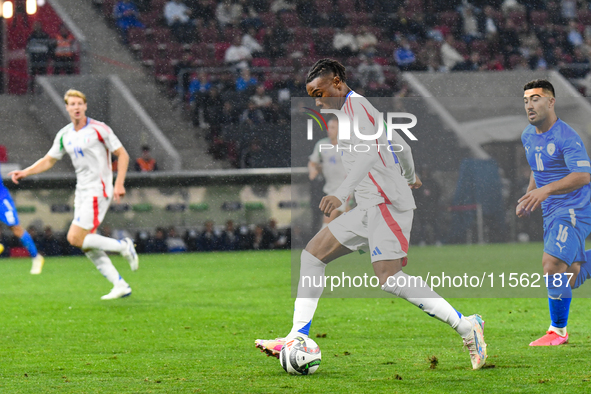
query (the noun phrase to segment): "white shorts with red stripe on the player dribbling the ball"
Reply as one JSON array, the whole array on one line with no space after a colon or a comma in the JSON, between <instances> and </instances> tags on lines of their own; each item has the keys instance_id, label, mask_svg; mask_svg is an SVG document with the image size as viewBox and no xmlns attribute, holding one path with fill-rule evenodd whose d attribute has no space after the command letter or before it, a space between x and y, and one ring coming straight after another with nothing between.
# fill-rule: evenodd
<instances>
[{"instance_id":1,"label":"white shorts with red stripe on the player dribbling the ball","mask_svg":"<svg viewBox=\"0 0 591 394\"><path fill-rule=\"evenodd\" d=\"M413 210L398 211L390 204L353 208L328 224L341 245L371 252L371 262L406 257ZM369 248L368 248L369 247Z\"/></svg>"}]
</instances>

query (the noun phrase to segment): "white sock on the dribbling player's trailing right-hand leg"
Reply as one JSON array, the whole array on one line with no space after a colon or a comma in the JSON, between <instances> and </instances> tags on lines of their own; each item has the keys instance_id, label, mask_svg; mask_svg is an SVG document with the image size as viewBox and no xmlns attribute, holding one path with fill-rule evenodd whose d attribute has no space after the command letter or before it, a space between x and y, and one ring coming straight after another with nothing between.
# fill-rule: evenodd
<instances>
[{"instance_id":1,"label":"white sock on the dribbling player's trailing right-hand leg","mask_svg":"<svg viewBox=\"0 0 591 394\"><path fill-rule=\"evenodd\" d=\"M388 278L382 290L404 298L418 306L429 316L436 317L449 324L465 338L472 330L472 324L453 306L434 292L420 277L410 276L402 271Z\"/></svg>"}]
</instances>

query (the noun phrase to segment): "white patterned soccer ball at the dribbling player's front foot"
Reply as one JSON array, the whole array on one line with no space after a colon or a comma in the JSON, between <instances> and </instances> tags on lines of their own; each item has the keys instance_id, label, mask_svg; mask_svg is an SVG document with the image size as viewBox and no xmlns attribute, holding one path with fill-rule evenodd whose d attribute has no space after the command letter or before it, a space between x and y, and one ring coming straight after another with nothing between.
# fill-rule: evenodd
<instances>
[{"instance_id":1,"label":"white patterned soccer ball at the dribbling player's front foot","mask_svg":"<svg viewBox=\"0 0 591 394\"><path fill-rule=\"evenodd\" d=\"M281 349L279 361L287 373L312 375L320 366L320 348L310 338L295 337Z\"/></svg>"}]
</instances>

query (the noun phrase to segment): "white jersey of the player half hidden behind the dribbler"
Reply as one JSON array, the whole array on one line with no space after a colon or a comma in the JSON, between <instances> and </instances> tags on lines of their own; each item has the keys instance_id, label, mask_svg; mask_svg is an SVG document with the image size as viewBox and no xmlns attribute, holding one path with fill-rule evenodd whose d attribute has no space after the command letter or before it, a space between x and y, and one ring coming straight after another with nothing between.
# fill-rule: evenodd
<instances>
[{"instance_id":1,"label":"white jersey of the player half hidden behind the dribbler","mask_svg":"<svg viewBox=\"0 0 591 394\"><path fill-rule=\"evenodd\" d=\"M322 149L320 145L322 146ZM336 146L332 146L330 138L322 138L314 146L314 151L309 159L312 163L322 165L322 175L324 176L324 187L322 191L327 195L333 195L347 176L345 167L341 162L341 153L337 152Z\"/></svg>"}]
</instances>

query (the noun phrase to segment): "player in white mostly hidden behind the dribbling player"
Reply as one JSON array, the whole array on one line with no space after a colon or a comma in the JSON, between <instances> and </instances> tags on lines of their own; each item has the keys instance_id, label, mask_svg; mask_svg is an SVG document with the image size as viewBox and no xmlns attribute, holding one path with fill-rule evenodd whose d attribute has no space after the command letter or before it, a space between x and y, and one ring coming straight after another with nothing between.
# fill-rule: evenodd
<instances>
[{"instance_id":1,"label":"player in white mostly hidden behind the dribbling player","mask_svg":"<svg viewBox=\"0 0 591 394\"><path fill-rule=\"evenodd\" d=\"M343 167L343 163L341 162L341 153L337 152L336 149L336 145L338 144L338 132L338 120L336 118L330 119L327 123L326 129L328 137L320 139L316 145L314 145L314 150L308 161L308 173L311 181L316 179L322 171L322 176L324 178L324 187L322 188L322 191L327 196L334 194L347 176L345 173L345 167ZM335 148L329 148L328 145L332 145ZM324 216L321 230L328 226L328 223L345 212L347 202L348 199L343 205L332 211L330 216Z\"/></svg>"}]
</instances>

